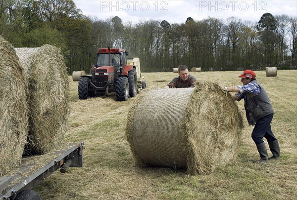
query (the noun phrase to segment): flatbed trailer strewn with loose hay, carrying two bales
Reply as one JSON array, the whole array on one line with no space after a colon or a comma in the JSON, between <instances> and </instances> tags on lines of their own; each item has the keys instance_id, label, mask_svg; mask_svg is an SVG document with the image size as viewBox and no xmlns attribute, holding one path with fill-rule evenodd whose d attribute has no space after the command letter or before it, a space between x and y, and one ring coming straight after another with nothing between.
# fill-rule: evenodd
<instances>
[{"instance_id":1,"label":"flatbed trailer strewn with loose hay, carrying two bales","mask_svg":"<svg viewBox=\"0 0 297 200\"><path fill-rule=\"evenodd\" d=\"M0 200L40 199L32 189L57 169L65 173L68 167L82 167L83 148L83 142L68 143L47 155L23 158L13 174L0 177Z\"/></svg>"}]
</instances>

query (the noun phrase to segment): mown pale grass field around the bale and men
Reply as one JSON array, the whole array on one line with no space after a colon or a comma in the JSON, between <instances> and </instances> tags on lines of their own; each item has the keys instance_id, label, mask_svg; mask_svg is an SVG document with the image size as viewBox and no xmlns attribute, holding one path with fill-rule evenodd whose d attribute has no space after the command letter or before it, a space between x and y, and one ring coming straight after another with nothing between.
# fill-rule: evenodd
<instances>
[{"instance_id":1,"label":"mown pale grass field around the bale and men","mask_svg":"<svg viewBox=\"0 0 297 200\"><path fill-rule=\"evenodd\" d=\"M242 84L241 72L190 73L198 80ZM149 89L162 88L173 73L143 73ZM297 198L297 71L278 71L265 77L256 71L275 110L272 130L280 143L281 158L259 159L245 120L238 158L208 175L188 175L169 168L134 165L125 129L135 98L117 102L114 95L79 100L78 82L71 76L71 113L66 142L84 142L84 167L55 172L36 190L43 200L296 200ZM145 90L141 92L146 92ZM238 102L244 114L244 102ZM267 145L267 143L266 143ZM268 148L268 145L267 145ZM271 155L270 151L269 156Z\"/></svg>"}]
</instances>

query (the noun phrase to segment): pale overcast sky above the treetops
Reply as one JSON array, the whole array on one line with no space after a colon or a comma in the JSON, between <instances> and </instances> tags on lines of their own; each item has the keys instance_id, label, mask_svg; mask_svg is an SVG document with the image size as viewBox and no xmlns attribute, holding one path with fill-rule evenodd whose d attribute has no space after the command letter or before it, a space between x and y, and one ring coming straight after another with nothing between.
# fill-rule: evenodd
<instances>
[{"instance_id":1,"label":"pale overcast sky above the treetops","mask_svg":"<svg viewBox=\"0 0 297 200\"><path fill-rule=\"evenodd\" d=\"M188 17L208 17L258 22L269 12L273 16L297 16L297 0L74 0L83 14L98 19L118 16L123 23L153 20L185 23Z\"/></svg>"}]
</instances>

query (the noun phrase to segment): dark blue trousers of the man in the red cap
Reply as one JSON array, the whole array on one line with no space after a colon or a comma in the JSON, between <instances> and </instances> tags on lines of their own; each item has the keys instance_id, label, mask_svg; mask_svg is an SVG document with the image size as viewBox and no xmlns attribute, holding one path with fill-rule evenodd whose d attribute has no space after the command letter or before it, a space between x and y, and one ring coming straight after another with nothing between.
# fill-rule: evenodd
<instances>
[{"instance_id":1,"label":"dark blue trousers of the man in the red cap","mask_svg":"<svg viewBox=\"0 0 297 200\"><path fill-rule=\"evenodd\" d=\"M256 143L256 145L264 142L263 137L266 138L267 142L272 142L276 140L276 137L273 135L270 125L272 118L273 113L257 120L255 127L251 133L251 138Z\"/></svg>"}]
</instances>

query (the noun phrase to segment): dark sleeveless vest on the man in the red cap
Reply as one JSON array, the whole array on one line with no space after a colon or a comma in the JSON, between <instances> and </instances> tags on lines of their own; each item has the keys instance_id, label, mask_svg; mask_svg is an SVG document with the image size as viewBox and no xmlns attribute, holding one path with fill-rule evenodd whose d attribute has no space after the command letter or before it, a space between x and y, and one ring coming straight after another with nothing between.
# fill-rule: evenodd
<instances>
[{"instance_id":1,"label":"dark sleeveless vest on the man in the red cap","mask_svg":"<svg viewBox=\"0 0 297 200\"><path fill-rule=\"evenodd\" d=\"M247 121L249 125L254 125L260 118L273 113L273 108L262 85L257 80L251 82L255 82L261 87L259 94L244 94Z\"/></svg>"}]
</instances>

